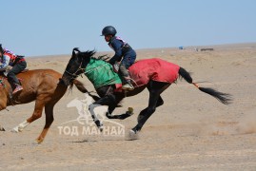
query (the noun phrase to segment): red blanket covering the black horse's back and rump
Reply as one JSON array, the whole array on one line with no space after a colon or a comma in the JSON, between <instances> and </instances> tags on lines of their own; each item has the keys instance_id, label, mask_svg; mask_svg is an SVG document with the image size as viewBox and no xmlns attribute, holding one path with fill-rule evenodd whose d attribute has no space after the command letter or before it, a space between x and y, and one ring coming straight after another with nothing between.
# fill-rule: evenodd
<instances>
[{"instance_id":1,"label":"red blanket covering the black horse's back and rump","mask_svg":"<svg viewBox=\"0 0 256 171\"><path fill-rule=\"evenodd\" d=\"M147 85L149 80L173 83L179 76L180 66L160 58L140 60L128 68L134 86Z\"/></svg>"}]
</instances>

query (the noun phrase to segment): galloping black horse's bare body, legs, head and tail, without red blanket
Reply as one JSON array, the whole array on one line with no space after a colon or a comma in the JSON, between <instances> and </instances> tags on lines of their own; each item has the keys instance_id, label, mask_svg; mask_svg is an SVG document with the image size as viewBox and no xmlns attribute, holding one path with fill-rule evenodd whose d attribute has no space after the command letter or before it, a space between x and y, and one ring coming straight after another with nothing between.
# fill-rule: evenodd
<instances>
[{"instance_id":1,"label":"galloping black horse's bare body, legs, head and tail, without red blanket","mask_svg":"<svg viewBox=\"0 0 256 171\"><path fill-rule=\"evenodd\" d=\"M148 118L155 112L156 107L164 104L163 99L161 98L161 93L167 89L171 83L165 83L165 82L158 82L155 80L150 79L148 80L148 84L146 85L135 85L135 88L131 91L117 91L117 87L113 82L109 82L102 85L95 85L94 80L97 80L98 77L102 77L105 74L114 73L112 71L112 67L106 62L105 60L98 58L96 59L93 57L95 54L95 51L80 51L77 47L73 48L72 50L72 56L69 60L69 64L66 67L66 70L63 74L62 81L65 85L69 85L72 80L77 78L79 75L85 73L85 75L88 75L88 73L92 73L92 78L90 76L89 80L94 85L97 94L100 96L99 99L97 99L93 104L89 105L89 111L92 115L93 121L97 124L99 128L101 128L102 123L97 119L96 115L94 114L94 107L99 105L108 105L108 112L106 116L108 119L120 119L123 120L130 116L131 112L126 112L125 114L121 115L111 115L115 107L119 102L121 102L125 97L134 96L138 93L142 92L146 87L149 91L149 102L148 107L142 110L138 116L138 123L135 127L133 127L130 130L130 134L136 134L138 131L140 131L144 125L144 123L147 122ZM91 65L91 59L94 59L94 62L100 62L99 64L94 63L94 66ZM167 62L166 62L167 63ZM96 64L96 65L95 65ZM134 64L136 65L136 63ZM134 66L133 65L133 66ZM102 71L99 73L98 69L100 67L106 67L108 66L107 71ZM110 67L109 67L110 66ZM149 66L150 67L150 66ZM89 68L89 69L88 69ZM97 72L98 71L98 72ZM166 71L167 72L167 71ZM116 74L116 73L115 73ZM179 66L179 69L177 71L177 75L184 78L187 83L195 85L199 90L213 96L218 101L220 101L222 104L230 104L231 98L229 94L219 92L212 88L207 87L200 87L196 83L193 83L192 78L190 77L190 74L185 70L183 67ZM95 99L95 97L94 97Z\"/></svg>"}]
</instances>

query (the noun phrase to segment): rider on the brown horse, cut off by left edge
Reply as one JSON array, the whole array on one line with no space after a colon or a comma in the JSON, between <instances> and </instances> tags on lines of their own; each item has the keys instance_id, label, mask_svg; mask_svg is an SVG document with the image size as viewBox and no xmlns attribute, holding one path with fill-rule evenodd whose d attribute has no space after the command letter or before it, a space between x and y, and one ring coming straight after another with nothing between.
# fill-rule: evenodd
<instances>
[{"instance_id":1,"label":"rider on the brown horse, cut off by left edge","mask_svg":"<svg viewBox=\"0 0 256 171\"><path fill-rule=\"evenodd\" d=\"M16 74L20 73L27 67L27 63L24 56L15 55L10 50L3 48L0 44L0 72L6 71L8 81L15 94L18 91L23 90L22 85L16 77Z\"/></svg>"}]
</instances>

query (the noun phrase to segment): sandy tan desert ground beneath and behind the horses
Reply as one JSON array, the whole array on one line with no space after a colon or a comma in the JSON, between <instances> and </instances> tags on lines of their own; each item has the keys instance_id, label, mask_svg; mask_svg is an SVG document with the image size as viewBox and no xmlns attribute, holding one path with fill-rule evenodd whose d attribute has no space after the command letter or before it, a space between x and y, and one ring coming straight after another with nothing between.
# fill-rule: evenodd
<instances>
[{"instance_id":1,"label":"sandy tan desert ground beneath and behind the horses","mask_svg":"<svg viewBox=\"0 0 256 171\"><path fill-rule=\"evenodd\" d=\"M85 100L74 87L55 105L55 120L42 144L34 140L44 126L44 115L21 133L10 132L30 117L33 103L1 111L0 123L7 131L0 132L0 170L256 170L256 44L211 47L213 51L140 49L137 59L160 57L183 66L195 82L203 82L199 85L232 94L232 104L221 104L178 81L162 94L165 104L157 108L138 139L130 141L128 131L148 105L148 90L125 99L124 106L114 111L134 108L133 116L115 121L124 125L125 135L114 137L81 133L83 124L75 121L78 110L67 106L76 98ZM63 73L69 57L28 57L28 67ZM94 90L87 78L79 80ZM77 127L77 132L69 134L67 127L61 131L64 125Z\"/></svg>"}]
</instances>

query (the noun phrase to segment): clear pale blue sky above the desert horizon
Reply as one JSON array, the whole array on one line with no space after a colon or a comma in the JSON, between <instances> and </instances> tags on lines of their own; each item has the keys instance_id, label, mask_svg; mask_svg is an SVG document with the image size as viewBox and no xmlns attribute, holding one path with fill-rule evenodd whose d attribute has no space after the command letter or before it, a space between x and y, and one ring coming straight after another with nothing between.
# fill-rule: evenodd
<instances>
[{"instance_id":1,"label":"clear pale blue sky above the desert horizon","mask_svg":"<svg viewBox=\"0 0 256 171\"><path fill-rule=\"evenodd\" d=\"M0 0L0 43L26 56L111 51L111 25L131 47L256 42L255 0Z\"/></svg>"}]
</instances>

